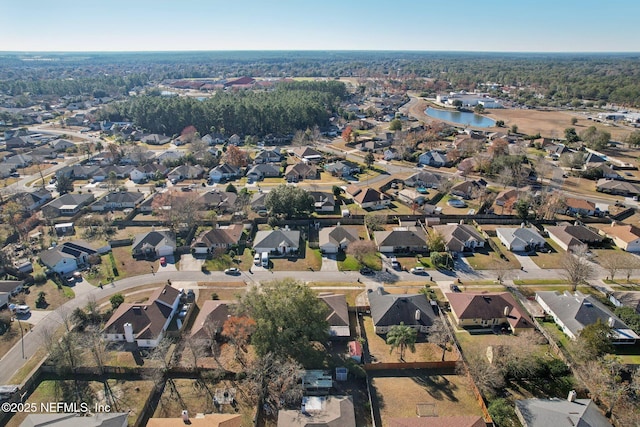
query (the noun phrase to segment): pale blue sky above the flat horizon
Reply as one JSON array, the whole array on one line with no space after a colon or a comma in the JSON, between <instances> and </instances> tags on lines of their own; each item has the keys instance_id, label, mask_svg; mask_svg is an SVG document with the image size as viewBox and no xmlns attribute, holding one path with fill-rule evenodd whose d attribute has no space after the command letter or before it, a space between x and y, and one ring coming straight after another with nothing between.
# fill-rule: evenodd
<instances>
[{"instance_id":1,"label":"pale blue sky above the flat horizon","mask_svg":"<svg viewBox=\"0 0 640 427\"><path fill-rule=\"evenodd\" d=\"M0 51L640 52L637 0L0 0Z\"/></svg>"}]
</instances>

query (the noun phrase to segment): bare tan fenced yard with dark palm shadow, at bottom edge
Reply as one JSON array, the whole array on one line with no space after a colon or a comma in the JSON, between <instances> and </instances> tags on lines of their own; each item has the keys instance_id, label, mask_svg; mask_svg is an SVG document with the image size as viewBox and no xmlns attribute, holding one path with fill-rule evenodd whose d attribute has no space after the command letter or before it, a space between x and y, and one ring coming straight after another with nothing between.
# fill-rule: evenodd
<instances>
[{"instance_id":1,"label":"bare tan fenced yard with dark palm shadow, at bottom edge","mask_svg":"<svg viewBox=\"0 0 640 427\"><path fill-rule=\"evenodd\" d=\"M396 371L400 374L400 371ZM411 370L406 376L371 376L374 399L378 400L382 426L394 417L416 417L417 405L431 409L435 415L482 416L469 380L459 375L434 375L426 370Z\"/></svg>"}]
</instances>

